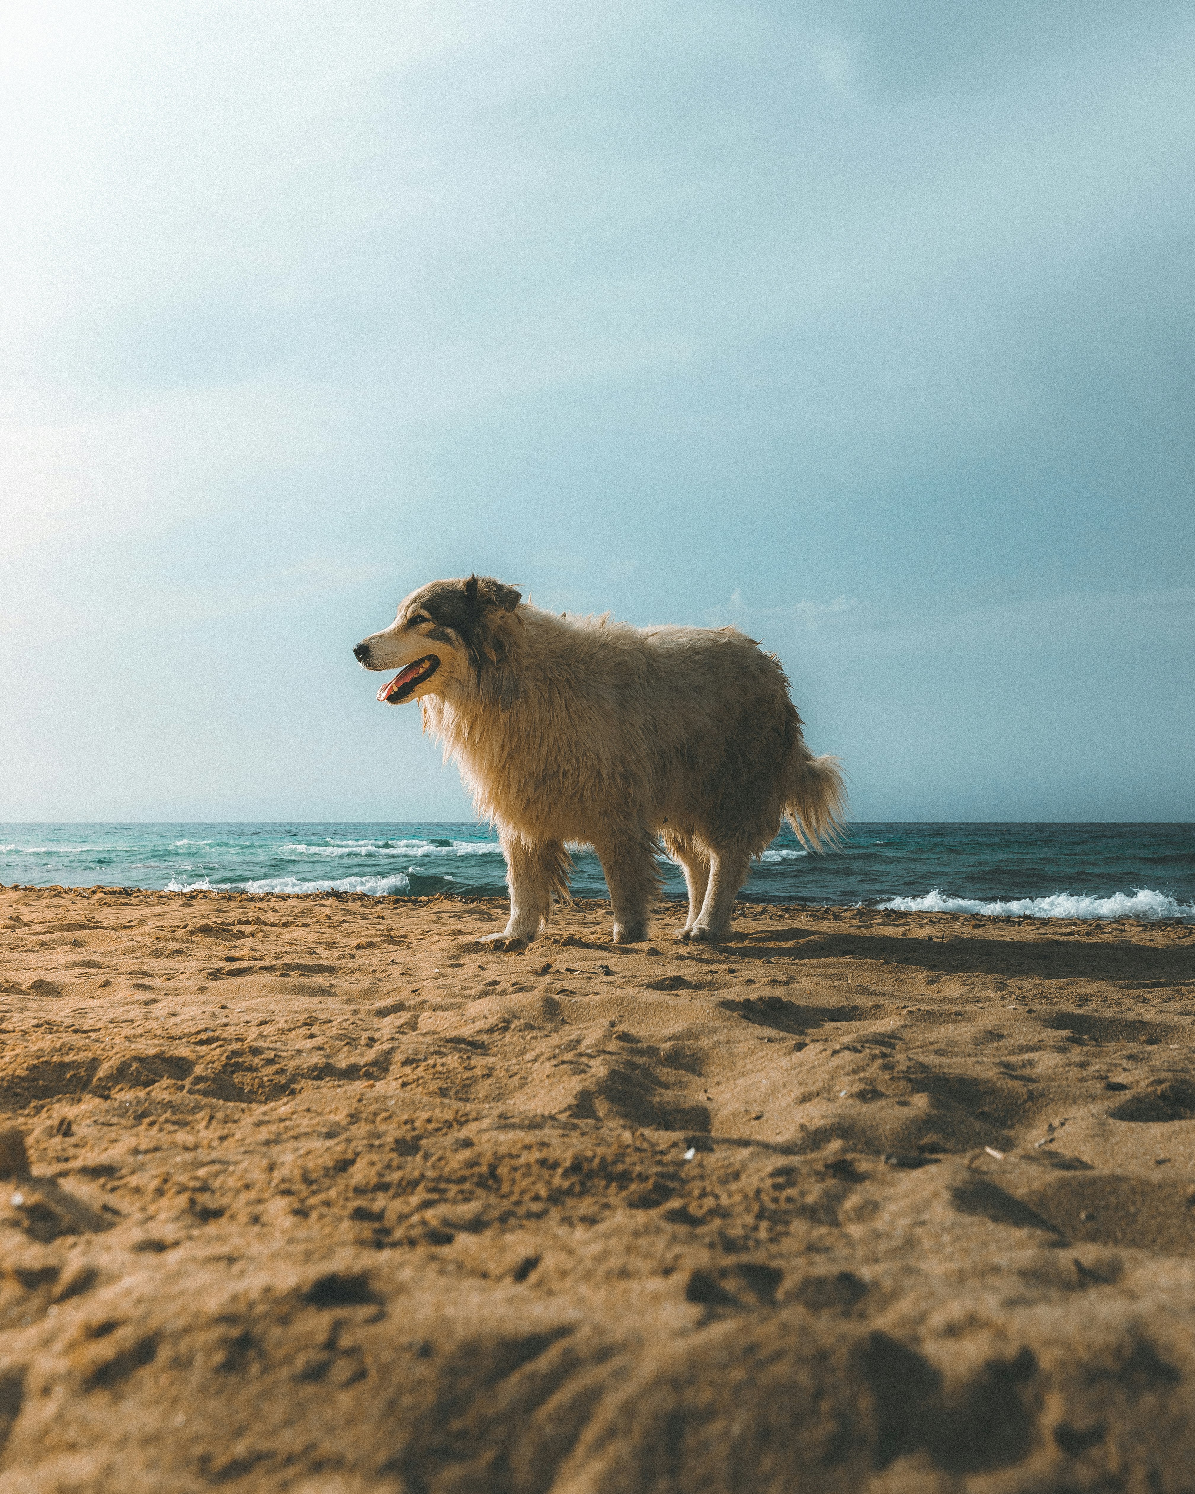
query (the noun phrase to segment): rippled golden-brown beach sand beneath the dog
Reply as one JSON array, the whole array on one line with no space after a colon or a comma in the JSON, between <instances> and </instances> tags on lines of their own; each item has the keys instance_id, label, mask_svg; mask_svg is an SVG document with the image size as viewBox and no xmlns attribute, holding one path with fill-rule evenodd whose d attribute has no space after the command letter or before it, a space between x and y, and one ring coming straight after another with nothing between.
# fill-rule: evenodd
<instances>
[{"instance_id":1,"label":"rippled golden-brown beach sand beneath the dog","mask_svg":"<svg viewBox=\"0 0 1195 1494\"><path fill-rule=\"evenodd\" d=\"M0 1494L1195 1488L1195 931L502 917L0 890Z\"/></svg>"}]
</instances>

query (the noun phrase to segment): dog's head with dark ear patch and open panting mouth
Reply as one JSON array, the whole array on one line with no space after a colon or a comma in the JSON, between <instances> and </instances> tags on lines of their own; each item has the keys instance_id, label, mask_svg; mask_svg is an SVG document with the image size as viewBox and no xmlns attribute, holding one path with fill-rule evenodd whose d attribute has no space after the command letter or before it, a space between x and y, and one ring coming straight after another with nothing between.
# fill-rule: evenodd
<instances>
[{"instance_id":1,"label":"dog's head with dark ear patch and open panting mouth","mask_svg":"<svg viewBox=\"0 0 1195 1494\"><path fill-rule=\"evenodd\" d=\"M479 689L506 656L506 627L523 601L512 586L488 575L468 581L432 581L399 604L399 616L381 633L353 650L366 669L397 669L378 690L387 705L445 695L451 687ZM509 684L499 686L509 705Z\"/></svg>"}]
</instances>

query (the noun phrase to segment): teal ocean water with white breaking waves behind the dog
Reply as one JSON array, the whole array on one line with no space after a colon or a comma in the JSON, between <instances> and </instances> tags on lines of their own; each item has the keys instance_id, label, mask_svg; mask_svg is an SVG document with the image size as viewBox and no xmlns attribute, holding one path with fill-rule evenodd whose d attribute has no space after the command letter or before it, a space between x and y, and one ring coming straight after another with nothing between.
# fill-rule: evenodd
<instances>
[{"instance_id":1,"label":"teal ocean water with white breaking waves behind the dog","mask_svg":"<svg viewBox=\"0 0 1195 1494\"><path fill-rule=\"evenodd\" d=\"M663 893L684 898L660 858ZM170 892L505 896L487 825L0 825L0 883ZM574 853L572 890L606 896ZM851 825L808 853L786 831L751 868L750 902L869 905L1008 917L1195 922L1195 825Z\"/></svg>"}]
</instances>

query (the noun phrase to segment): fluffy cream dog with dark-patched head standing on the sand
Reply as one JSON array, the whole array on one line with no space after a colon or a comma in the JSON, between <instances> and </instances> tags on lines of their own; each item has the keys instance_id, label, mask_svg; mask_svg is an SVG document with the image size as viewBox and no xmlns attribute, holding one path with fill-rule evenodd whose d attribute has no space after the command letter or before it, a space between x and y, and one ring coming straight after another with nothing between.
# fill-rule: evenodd
<instances>
[{"instance_id":1,"label":"fluffy cream dog with dark-patched head standing on the sand","mask_svg":"<svg viewBox=\"0 0 1195 1494\"><path fill-rule=\"evenodd\" d=\"M412 592L353 653L397 669L378 699L420 702L497 826L511 889L497 947L536 938L568 901L571 843L602 862L615 944L648 937L660 841L689 887L677 938L717 943L784 817L813 849L841 829L836 760L810 753L780 662L735 627L557 616L471 575Z\"/></svg>"}]
</instances>

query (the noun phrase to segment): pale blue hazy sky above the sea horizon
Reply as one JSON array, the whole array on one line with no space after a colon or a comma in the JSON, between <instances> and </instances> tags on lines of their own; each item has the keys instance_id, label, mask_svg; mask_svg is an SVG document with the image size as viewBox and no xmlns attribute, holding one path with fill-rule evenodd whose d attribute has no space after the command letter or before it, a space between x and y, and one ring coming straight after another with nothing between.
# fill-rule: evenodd
<instances>
[{"instance_id":1,"label":"pale blue hazy sky above the sea horizon","mask_svg":"<svg viewBox=\"0 0 1195 1494\"><path fill-rule=\"evenodd\" d=\"M0 820L453 820L436 577L859 820L1195 820L1195 12L7 0Z\"/></svg>"}]
</instances>

